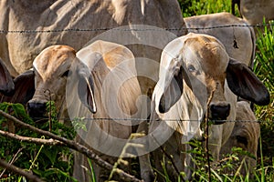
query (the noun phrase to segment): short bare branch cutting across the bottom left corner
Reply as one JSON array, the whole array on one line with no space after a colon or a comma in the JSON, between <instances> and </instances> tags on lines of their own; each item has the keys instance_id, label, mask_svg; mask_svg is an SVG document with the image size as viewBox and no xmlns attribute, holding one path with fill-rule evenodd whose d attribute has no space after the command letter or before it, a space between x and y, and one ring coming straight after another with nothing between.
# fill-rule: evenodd
<instances>
[{"instance_id":1,"label":"short bare branch cutting across the bottom left corner","mask_svg":"<svg viewBox=\"0 0 274 182\"><path fill-rule=\"evenodd\" d=\"M19 167L15 167L14 165L8 164L6 163L4 160L0 160L0 166L1 167L5 167L7 170L13 171L23 177L28 178L31 181L36 181L36 182L43 182L42 179L38 178L37 176L26 172L24 169L19 168Z\"/></svg>"}]
</instances>

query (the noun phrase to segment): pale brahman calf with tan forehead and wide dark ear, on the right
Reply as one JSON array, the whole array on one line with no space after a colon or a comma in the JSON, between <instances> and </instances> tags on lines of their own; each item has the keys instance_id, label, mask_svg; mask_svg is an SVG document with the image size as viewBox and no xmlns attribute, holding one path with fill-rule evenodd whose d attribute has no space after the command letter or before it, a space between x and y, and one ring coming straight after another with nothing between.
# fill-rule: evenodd
<instances>
[{"instance_id":1,"label":"pale brahman calf with tan forehead and wide dark ear, on the right","mask_svg":"<svg viewBox=\"0 0 274 182\"><path fill-rule=\"evenodd\" d=\"M165 164L172 181L177 180L180 171L186 173L186 178L191 175L191 159L185 155L188 146L184 144L201 136L206 106L210 120L235 120L235 95L258 105L269 103L269 91L258 77L245 64L229 58L225 46L215 37L189 33L165 46L159 81L153 91L149 135L153 137L150 146L163 144L164 154L172 156L173 162ZM210 127L209 149L216 160L233 127L231 122ZM153 157L157 170L163 172L160 148Z\"/></svg>"}]
</instances>

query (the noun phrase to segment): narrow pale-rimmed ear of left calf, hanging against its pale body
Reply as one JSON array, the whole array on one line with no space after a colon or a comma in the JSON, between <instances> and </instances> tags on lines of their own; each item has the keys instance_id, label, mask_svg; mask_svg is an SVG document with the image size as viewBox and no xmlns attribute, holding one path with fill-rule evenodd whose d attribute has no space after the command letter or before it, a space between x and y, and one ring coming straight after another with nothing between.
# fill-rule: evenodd
<instances>
[{"instance_id":1,"label":"narrow pale-rimmed ear of left calf, hanging against its pale body","mask_svg":"<svg viewBox=\"0 0 274 182\"><path fill-rule=\"evenodd\" d=\"M91 113L96 113L97 108L94 98L94 85L91 73L87 66L81 64L78 69L79 74L79 86L78 94L80 101L89 108Z\"/></svg>"}]
</instances>

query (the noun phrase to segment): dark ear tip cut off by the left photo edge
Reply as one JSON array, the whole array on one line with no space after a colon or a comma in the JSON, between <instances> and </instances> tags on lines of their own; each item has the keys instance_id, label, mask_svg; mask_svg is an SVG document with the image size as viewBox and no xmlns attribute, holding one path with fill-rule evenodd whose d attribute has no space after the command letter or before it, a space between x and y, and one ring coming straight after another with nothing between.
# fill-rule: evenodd
<instances>
[{"instance_id":1,"label":"dark ear tip cut off by the left photo edge","mask_svg":"<svg viewBox=\"0 0 274 182\"><path fill-rule=\"evenodd\" d=\"M2 59L0 58L0 92L5 96L11 96L13 95L14 91L15 84L13 79L5 67Z\"/></svg>"}]
</instances>

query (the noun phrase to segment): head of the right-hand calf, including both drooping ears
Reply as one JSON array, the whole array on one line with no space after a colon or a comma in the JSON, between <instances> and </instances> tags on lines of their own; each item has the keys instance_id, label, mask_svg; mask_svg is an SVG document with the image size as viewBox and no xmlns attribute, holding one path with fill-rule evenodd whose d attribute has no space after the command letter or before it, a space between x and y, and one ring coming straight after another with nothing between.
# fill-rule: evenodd
<instances>
[{"instance_id":1,"label":"head of the right-hand calf, including both drooping ears","mask_svg":"<svg viewBox=\"0 0 274 182\"><path fill-rule=\"evenodd\" d=\"M179 37L164 48L161 61L163 92L158 97L158 113L168 112L183 95L188 99L184 102L194 102L188 98L193 94L204 110L209 106L211 119L226 120L231 105L236 106L230 90L258 105L269 103L269 91L258 77L248 66L229 58L224 45L213 36L190 33Z\"/></svg>"}]
</instances>

